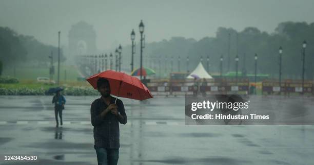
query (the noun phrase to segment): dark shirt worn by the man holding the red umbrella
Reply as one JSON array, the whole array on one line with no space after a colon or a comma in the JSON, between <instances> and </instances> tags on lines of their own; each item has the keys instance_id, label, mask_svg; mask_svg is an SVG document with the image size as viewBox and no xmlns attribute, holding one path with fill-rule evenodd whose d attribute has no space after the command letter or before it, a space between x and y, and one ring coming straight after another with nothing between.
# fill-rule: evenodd
<instances>
[{"instance_id":1,"label":"dark shirt worn by the man holding the red umbrella","mask_svg":"<svg viewBox=\"0 0 314 165\"><path fill-rule=\"evenodd\" d=\"M111 97L110 104L114 104L114 101L115 98ZM127 123L124 105L120 99L116 100L118 113L123 116L121 120L110 111L102 119L100 114L108 106L101 98L94 100L91 104L90 115L91 124L94 126L94 145L104 148L120 148L119 123Z\"/></svg>"}]
</instances>

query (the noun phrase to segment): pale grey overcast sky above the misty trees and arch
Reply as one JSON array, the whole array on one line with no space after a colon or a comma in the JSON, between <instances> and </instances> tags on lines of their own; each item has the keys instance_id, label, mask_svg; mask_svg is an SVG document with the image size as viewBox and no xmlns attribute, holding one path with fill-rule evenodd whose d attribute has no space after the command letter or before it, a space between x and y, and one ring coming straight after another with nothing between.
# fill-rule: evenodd
<instances>
[{"instance_id":1,"label":"pale grey overcast sky above the misty trees and arch","mask_svg":"<svg viewBox=\"0 0 314 165\"><path fill-rule=\"evenodd\" d=\"M129 44L133 28L139 40L141 19L146 42L151 42L172 36L199 40L215 36L219 27L241 31L250 26L271 33L279 22L314 22L313 15L313 0L0 0L0 26L52 45L60 30L62 45L68 45L71 25L84 20L93 25L100 50Z\"/></svg>"}]
</instances>

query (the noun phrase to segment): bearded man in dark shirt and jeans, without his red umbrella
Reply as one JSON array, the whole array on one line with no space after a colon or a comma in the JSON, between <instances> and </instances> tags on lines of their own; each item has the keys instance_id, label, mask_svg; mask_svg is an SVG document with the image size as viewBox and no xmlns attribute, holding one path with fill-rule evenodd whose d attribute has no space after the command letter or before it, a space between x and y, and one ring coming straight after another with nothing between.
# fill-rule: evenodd
<instances>
[{"instance_id":1,"label":"bearded man in dark shirt and jeans, without his red umbrella","mask_svg":"<svg viewBox=\"0 0 314 165\"><path fill-rule=\"evenodd\" d=\"M97 80L97 90L101 98L90 108L91 123L94 126L94 149L98 164L117 164L119 159L119 123L127 123L123 102L110 95L110 84L105 78Z\"/></svg>"}]
</instances>

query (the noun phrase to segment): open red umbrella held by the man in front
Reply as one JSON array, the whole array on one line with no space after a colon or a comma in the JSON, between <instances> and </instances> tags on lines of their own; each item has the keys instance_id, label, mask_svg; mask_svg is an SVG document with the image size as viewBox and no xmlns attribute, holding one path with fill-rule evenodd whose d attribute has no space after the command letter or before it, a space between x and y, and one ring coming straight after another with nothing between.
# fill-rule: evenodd
<instances>
[{"instance_id":1,"label":"open red umbrella held by the man in front","mask_svg":"<svg viewBox=\"0 0 314 165\"><path fill-rule=\"evenodd\" d=\"M153 98L148 88L136 77L132 77L122 72L106 70L86 79L94 89L97 89L97 80L106 78L110 84L111 94L116 98L123 97L135 100L145 100ZM116 99L115 99L116 101Z\"/></svg>"}]
</instances>

